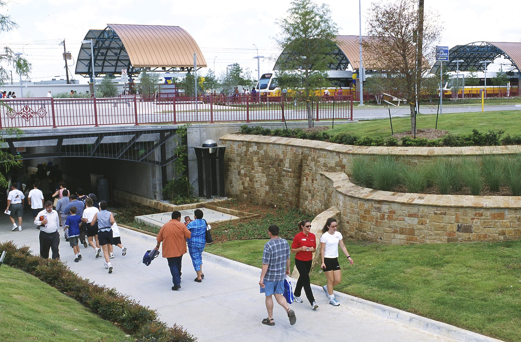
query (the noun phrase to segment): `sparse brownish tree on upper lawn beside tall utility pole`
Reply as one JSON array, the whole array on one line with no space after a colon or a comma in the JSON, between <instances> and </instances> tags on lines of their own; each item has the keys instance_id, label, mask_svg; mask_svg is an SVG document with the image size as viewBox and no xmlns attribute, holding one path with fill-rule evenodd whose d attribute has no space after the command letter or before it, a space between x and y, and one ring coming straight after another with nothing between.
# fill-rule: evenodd
<instances>
[{"instance_id":1,"label":"sparse brownish tree on upper lawn beside tall utility pole","mask_svg":"<svg viewBox=\"0 0 521 342\"><path fill-rule=\"evenodd\" d=\"M438 15L429 11L425 14L428 19L423 20L423 1L420 0L419 10L416 3L417 0L374 3L368 15L370 39L364 42L366 55L377 56L369 63L390 73L395 92L410 103L413 132L416 89L418 93L423 90L422 83L430 69L428 60L432 61L441 32Z\"/></svg>"}]
</instances>

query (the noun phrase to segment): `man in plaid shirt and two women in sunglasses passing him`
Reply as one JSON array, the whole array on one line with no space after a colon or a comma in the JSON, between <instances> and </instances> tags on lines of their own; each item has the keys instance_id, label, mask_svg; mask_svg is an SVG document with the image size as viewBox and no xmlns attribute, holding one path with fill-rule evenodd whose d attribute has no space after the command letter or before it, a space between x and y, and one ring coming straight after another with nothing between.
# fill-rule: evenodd
<instances>
[{"instance_id":1,"label":"man in plaid shirt and two women in sunglasses passing him","mask_svg":"<svg viewBox=\"0 0 521 342\"><path fill-rule=\"evenodd\" d=\"M353 259L345 248L342 234L337 231L337 227L336 219L327 219L320 236L320 268L324 271L327 279L327 284L322 288L332 306L340 305L333 294L333 287L340 284L342 280L338 262L339 246L350 264L353 264ZM293 290L295 302L303 302L300 297L302 289L304 289L306 298L311 304L311 309L315 310L318 308L309 281L313 252L317 248L316 237L315 234L311 233L311 222L309 220L299 222L299 230L300 232L295 235L290 247L287 240L279 237L279 227L277 225L273 224L268 227L270 239L264 246L261 280L259 281L261 293L264 293L266 296L266 309L268 311L268 317L262 320L263 324L275 325L272 296L275 296L279 305L286 311L290 324L293 325L296 322L295 312L289 308L288 302L283 296L284 278L290 274L290 254L295 254L295 267L299 271L299 279Z\"/></svg>"}]
</instances>

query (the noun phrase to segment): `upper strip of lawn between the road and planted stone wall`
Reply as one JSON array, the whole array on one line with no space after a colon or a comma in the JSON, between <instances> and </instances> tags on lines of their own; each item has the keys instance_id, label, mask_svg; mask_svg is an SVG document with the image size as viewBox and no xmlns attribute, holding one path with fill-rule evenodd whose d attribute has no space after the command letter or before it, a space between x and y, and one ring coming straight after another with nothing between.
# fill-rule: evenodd
<instances>
[{"instance_id":1,"label":"upper strip of lawn between the road and planted stone wall","mask_svg":"<svg viewBox=\"0 0 521 342\"><path fill-rule=\"evenodd\" d=\"M421 107L420 107L421 110ZM408 113L408 107L406 109ZM436 114L417 115L417 129L435 128ZM485 133L489 130L503 130L505 135L521 134L521 111L502 110L488 112L469 112L469 113L446 113L438 117L438 129L445 130L452 134L472 133L472 130ZM508 123L508 124L506 124ZM411 118L393 118L392 126L394 133L401 133L411 130ZM391 126L389 119L369 120L355 123L335 125L334 129L328 130L331 135L338 133L351 133L362 137L382 137L391 136Z\"/></svg>"}]
</instances>

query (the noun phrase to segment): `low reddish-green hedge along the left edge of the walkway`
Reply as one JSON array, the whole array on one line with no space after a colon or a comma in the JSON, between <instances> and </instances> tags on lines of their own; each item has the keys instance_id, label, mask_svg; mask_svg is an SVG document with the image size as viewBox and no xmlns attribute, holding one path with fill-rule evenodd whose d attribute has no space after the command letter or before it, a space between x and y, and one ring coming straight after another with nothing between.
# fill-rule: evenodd
<instances>
[{"instance_id":1,"label":"low reddish-green hedge along the left edge of the walkway","mask_svg":"<svg viewBox=\"0 0 521 342\"><path fill-rule=\"evenodd\" d=\"M137 301L118 293L115 288L85 280L59 260L42 259L33 255L28 246L17 247L12 241L0 243L0 250L6 251L6 266L32 274L59 292L76 299L102 318L118 325L123 332L133 335L136 341L196 340L181 326L168 327L160 322L155 310L143 307Z\"/></svg>"}]
</instances>

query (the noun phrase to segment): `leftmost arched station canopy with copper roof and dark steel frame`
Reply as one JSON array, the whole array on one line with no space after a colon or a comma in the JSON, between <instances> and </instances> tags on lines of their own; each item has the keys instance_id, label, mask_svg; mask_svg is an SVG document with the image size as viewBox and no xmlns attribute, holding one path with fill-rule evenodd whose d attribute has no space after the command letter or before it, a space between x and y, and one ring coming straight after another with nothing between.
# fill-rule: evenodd
<instances>
[{"instance_id":1,"label":"leftmost arched station canopy with copper roof and dark steel frame","mask_svg":"<svg viewBox=\"0 0 521 342\"><path fill-rule=\"evenodd\" d=\"M193 70L206 67L201 49L192 36L179 26L108 24L103 30L89 30L84 40L94 46L94 74L137 75L142 68L160 71ZM91 46L81 44L76 73L91 75Z\"/></svg>"}]
</instances>

